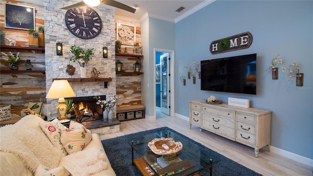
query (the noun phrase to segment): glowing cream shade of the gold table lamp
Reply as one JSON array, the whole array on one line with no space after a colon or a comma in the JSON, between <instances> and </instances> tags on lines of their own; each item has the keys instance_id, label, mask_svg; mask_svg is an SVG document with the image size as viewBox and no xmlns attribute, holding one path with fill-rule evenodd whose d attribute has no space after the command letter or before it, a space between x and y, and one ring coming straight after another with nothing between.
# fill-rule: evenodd
<instances>
[{"instance_id":1,"label":"glowing cream shade of the gold table lamp","mask_svg":"<svg viewBox=\"0 0 313 176\"><path fill-rule=\"evenodd\" d=\"M45 98L58 99L76 96L67 80L54 80Z\"/></svg>"}]
</instances>

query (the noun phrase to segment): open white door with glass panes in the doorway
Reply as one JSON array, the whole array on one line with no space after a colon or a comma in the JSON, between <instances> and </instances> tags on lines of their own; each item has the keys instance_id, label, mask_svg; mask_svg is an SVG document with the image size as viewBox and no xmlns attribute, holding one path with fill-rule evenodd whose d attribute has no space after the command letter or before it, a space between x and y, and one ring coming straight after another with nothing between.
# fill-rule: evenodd
<instances>
[{"instance_id":1,"label":"open white door with glass panes in the doorway","mask_svg":"<svg viewBox=\"0 0 313 176\"><path fill-rule=\"evenodd\" d=\"M161 71L161 112L170 115L170 57L169 54L160 56Z\"/></svg>"}]
</instances>

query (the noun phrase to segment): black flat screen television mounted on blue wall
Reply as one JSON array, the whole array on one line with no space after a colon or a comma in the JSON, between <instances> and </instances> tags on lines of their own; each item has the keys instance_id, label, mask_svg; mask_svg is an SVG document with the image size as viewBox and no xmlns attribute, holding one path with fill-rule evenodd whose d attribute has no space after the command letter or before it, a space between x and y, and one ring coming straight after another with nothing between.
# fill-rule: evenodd
<instances>
[{"instance_id":1,"label":"black flat screen television mounted on blue wall","mask_svg":"<svg viewBox=\"0 0 313 176\"><path fill-rule=\"evenodd\" d=\"M256 54L201 61L201 90L256 95Z\"/></svg>"}]
</instances>

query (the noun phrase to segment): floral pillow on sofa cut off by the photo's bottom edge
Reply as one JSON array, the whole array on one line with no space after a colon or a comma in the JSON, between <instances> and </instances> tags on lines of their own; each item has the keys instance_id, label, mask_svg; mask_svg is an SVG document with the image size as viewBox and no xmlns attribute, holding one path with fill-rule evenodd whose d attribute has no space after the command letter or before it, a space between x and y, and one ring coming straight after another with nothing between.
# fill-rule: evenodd
<instances>
[{"instance_id":1,"label":"floral pillow on sofa cut off by the photo's bottom edge","mask_svg":"<svg viewBox=\"0 0 313 176\"><path fill-rule=\"evenodd\" d=\"M36 170L35 176L72 176L64 167L50 169L40 164Z\"/></svg>"}]
</instances>

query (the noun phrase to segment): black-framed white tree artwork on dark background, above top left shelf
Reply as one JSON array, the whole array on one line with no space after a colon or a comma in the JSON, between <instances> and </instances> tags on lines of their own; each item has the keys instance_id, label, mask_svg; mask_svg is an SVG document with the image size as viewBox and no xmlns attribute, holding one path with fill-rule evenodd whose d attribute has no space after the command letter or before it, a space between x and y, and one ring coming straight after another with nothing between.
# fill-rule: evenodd
<instances>
[{"instance_id":1,"label":"black-framed white tree artwork on dark background, above top left shelf","mask_svg":"<svg viewBox=\"0 0 313 176\"><path fill-rule=\"evenodd\" d=\"M35 29L35 8L5 4L4 23L6 28L28 30Z\"/></svg>"}]
</instances>

